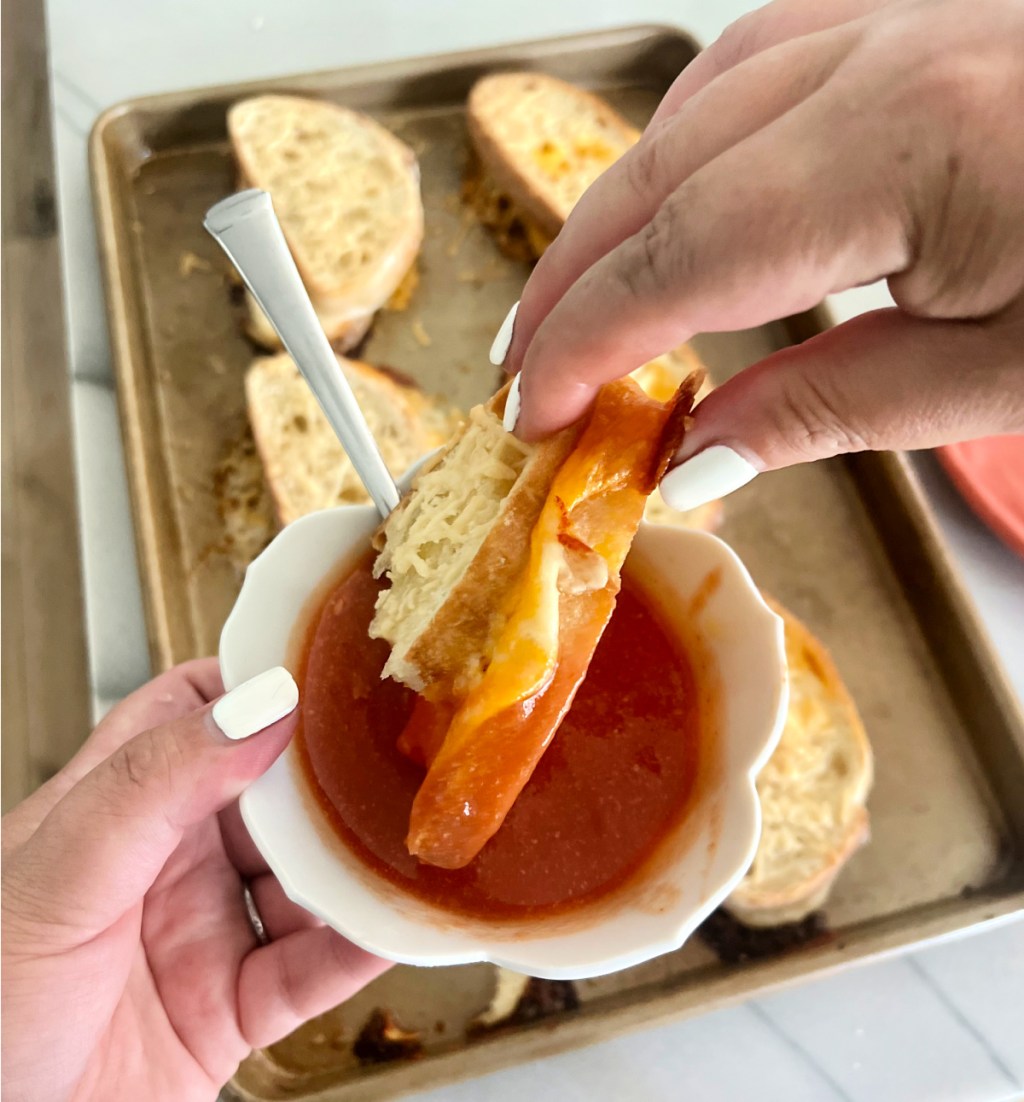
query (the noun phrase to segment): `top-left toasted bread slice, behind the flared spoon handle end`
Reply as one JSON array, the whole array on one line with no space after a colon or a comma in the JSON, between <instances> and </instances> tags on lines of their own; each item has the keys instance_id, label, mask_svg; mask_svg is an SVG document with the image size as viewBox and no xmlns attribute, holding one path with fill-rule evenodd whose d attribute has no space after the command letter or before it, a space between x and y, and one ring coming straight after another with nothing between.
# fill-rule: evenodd
<instances>
[{"instance_id":1,"label":"top-left toasted bread slice, behind the flared spoon handle end","mask_svg":"<svg viewBox=\"0 0 1024 1102\"><path fill-rule=\"evenodd\" d=\"M244 186L270 192L327 336L352 347L409 271L423 238L412 151L358 111L300 96L230 108ZM254 339L277 335L249 303Z\"/></svg>"}]
</instances>

